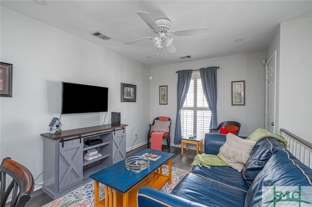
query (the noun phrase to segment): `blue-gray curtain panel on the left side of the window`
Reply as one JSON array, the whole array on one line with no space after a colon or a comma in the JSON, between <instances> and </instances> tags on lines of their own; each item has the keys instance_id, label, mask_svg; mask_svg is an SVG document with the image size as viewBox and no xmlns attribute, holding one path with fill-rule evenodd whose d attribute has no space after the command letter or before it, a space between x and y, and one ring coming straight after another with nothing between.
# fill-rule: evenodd
<instances>
[{"instance_id":1,"label":"blue-gray curtain panel on the left side of the window","mask_svg":"<svg viewBox=\"0 0 312 207\"><path fill-rule=\"evenodd\" d=\"M179 70L177 71L177 111L176 111L176 131L175 131L175 144L181 143L181 117L180 111L187 96L192 77L192 70Z\"/></svg>"}]
</instances>

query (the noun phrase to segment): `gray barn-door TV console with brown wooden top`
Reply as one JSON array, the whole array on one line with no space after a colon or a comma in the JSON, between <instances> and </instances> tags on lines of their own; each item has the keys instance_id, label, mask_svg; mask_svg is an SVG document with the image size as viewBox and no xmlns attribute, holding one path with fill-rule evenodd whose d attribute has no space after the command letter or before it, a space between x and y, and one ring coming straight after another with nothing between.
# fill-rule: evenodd
<instances>
[{"instance_id":1,"label":"gray barn-door TV console with brown wooden top","mask_svg":"<svg viewBox=\"0 0 312 207\"><path fill-rule=\"evenodd\" d=\"M106 124L40 134L43 137L42 190L53 199L90 182L89 175L126 158L126 126ZM89 146L88 139L102 139ZM87 150L96 148L102 156L83 159Z\"/></svg>"}]
</instances>

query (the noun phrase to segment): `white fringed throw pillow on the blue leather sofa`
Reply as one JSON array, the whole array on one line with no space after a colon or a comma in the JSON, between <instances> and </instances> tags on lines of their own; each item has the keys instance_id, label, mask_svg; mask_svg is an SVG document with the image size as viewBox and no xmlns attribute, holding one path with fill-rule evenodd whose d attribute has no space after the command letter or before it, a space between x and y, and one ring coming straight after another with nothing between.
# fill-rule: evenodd
<instances>
[{"instance_id":1,"label":"white fringed throw pillow on the blue leather sofa","mask_svg":"<svg viewBox=\"0 0 312 207\"><path fill-rule=\"evenodd\" d=\"M254 149L256 141L239 138L229 133L220 147L218 156L232 168L241 172Z\"/></svg>"}]
</instances>

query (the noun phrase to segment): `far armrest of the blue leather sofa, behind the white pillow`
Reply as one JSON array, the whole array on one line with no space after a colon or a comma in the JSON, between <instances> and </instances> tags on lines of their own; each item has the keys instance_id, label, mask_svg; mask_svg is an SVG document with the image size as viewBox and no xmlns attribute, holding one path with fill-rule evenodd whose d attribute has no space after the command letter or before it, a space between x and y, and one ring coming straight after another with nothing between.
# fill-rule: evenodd
<instances>
[{"instance_id":1,"label":"far armrest of the blue leather sofa, behind the white pillow","mask_svg":"<svg viewBox=\"0 0 312 207\"><path fill-rule=\"evenodd\" d=\"M246 139L247 137L240 138ZM225 143L226 135L207 133L205 134L205 154L217 155L219 148Z\"/></svg>"}]
</instances>

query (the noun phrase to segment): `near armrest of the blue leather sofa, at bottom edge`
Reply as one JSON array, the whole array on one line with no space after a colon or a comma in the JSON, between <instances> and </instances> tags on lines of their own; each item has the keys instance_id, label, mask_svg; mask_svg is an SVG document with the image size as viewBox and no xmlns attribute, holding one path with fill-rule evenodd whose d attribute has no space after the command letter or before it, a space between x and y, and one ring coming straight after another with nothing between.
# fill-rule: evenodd
<instances>
[{"instance_id":1,"label":"near armrest of the blue leather sofa, at bottom edge","mask_svg":"<svg viewBox=\"0 0 312 207\"><path fill-rule=\"evenodd\" d=\"M205 207L185 198L178 197L150 187L143 187L137 192L138 207Z\"/></svg>"}]
</instances>

